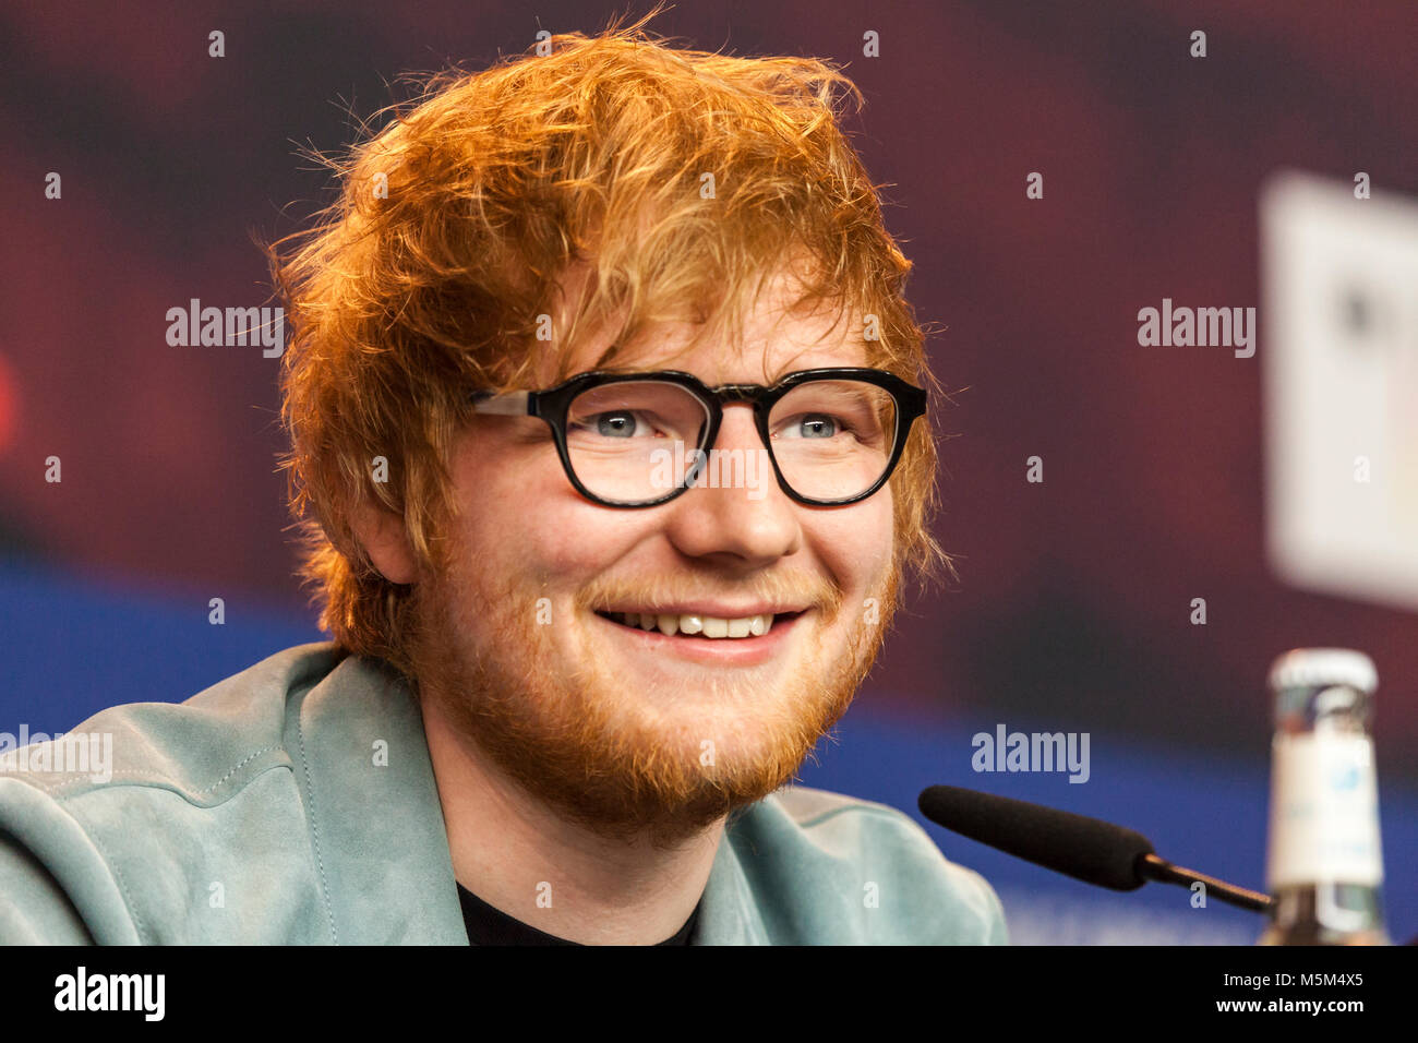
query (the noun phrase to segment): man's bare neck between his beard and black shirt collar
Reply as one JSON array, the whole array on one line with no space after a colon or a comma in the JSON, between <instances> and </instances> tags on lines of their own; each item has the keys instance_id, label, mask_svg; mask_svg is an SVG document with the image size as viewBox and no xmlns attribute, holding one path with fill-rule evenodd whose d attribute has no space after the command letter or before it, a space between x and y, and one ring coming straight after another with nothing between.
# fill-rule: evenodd
<instances>
[{"instance_id":1,"label":"man's bare neck between his beard and black shirt collar","mask_svg":"<svg viewBox=\"0 0 1418 1043\"><path fill-rule=\"evenodd\" d=\"M424 731L458 883L539 931L583 945L655 945L689 920L723 820L665 850L564 822L423 702Z\"/></svg>"}]
</instances>

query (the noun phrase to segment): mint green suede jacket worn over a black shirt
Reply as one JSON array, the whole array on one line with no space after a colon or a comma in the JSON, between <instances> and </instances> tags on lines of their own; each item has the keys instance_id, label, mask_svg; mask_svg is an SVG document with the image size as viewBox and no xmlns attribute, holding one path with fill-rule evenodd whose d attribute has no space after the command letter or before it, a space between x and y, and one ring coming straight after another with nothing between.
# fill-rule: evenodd
<instances>
[{"instance_id":1,"label":"mint green suede jacket worn over a black shirt","mask_svg":"<svg viewBox=\"0 0 1418 1043\"><path fill-rule=\"evenodd\" d=\"M0 758L0 942L468 944L418 701L386 664L298 646L81 734L112 736L106 780L54 771L52 741ZM900 812L787 786L730 816L695 941L1003 944L1005 925Z\"/></svg>"}]
</instances>

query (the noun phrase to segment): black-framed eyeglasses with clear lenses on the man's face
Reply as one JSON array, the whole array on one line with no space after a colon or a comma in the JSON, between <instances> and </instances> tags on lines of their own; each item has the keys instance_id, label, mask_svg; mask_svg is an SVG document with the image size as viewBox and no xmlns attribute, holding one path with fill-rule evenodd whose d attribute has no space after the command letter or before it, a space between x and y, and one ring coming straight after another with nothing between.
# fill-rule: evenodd
<instances>
[{"instance_id":1,"label":"black-framed eyeglasses with clear lenses on the man's face","mask_svg":"<svg viewBox=\"0 0 1418 1043\"><path fill-rule=\"evenodd\" d=\"M926 412L926 390L851 366L803 369L771 387L709 387L674 369L593 370L545 392L475 392L472 402L475 413L545 420L576 491L627 508L668 502L696 484L752 484L757 461L713 448L723 407L746 402L778 488L800 504L838 507L886 484Z\"/></svg>"}]
</instances>

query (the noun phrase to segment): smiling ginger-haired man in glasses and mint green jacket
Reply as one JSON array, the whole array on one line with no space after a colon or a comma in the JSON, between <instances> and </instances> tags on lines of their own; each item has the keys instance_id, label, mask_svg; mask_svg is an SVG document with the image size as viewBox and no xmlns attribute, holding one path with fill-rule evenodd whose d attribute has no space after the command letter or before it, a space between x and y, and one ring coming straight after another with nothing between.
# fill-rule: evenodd
<instances>
[{"instance_id":1,"label":"smiling ginger-haired man in glasses and mint green jacket","mask_svg":"<svg viewBox=\"0 0 1418 1043\"><path fill-rule=\"evenodd\" d=\"M434 79L272 250L333 641L96 715L109 780L0 776L0 938L1005 939L905 815L786 785L944 561L849 82L545 50Z\"/></svg>"}]
</instances>

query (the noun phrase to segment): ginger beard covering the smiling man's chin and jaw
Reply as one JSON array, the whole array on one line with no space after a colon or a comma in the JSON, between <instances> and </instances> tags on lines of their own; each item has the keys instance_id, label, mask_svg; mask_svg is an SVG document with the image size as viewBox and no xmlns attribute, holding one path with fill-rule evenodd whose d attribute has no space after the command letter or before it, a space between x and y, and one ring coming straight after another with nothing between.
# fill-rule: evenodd
<instances>
[{"instance_id":1,"label":"ginger beard covering the smiling man's chin and jaw","mask_svg":"<svg viewBox=\"0 0 1418 1043\"><path fill-rule=\"evenodd\" d=\"M600 617L557 640L485 606L478 622L492 640L481 654L465 644L467 617L438 606L420 690L488 766L566 820L628 843L681 843L791 780L875 658L865 647L822 654L807 640L814 629L783 634L747 666L702 663L676 654L675 639Z\"/></svg>"}]
</instances>

